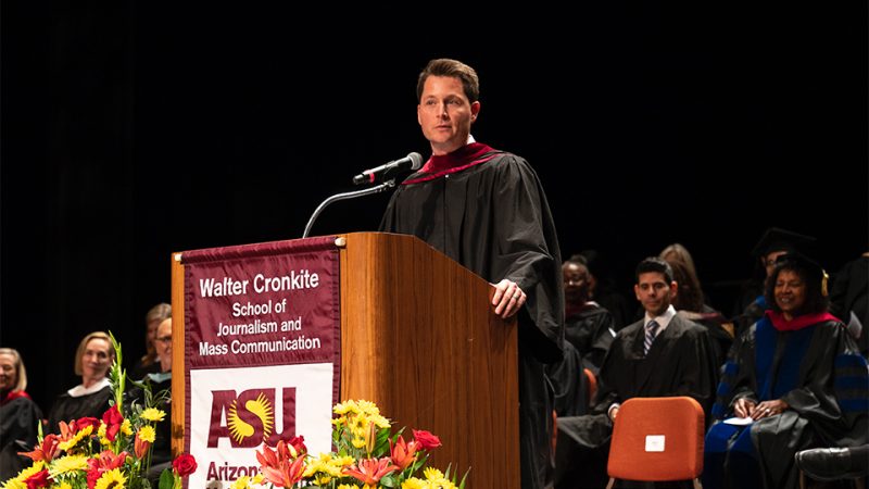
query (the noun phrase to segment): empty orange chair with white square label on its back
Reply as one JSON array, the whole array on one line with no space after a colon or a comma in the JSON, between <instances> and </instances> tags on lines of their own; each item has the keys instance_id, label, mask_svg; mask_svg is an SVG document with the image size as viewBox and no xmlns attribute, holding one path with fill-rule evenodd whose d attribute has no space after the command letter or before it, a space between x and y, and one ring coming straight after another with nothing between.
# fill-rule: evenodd
<instances>
[{"instance_id":1,"label":"empty orange chair with white square label on its back","mask_svg":"<svg viewBox=\"0 0 869 489\"><path fill-rule=\"evenodd\" d=\"M692 398L633 398L618 410L609 446L607 489L615 479L672 481L703 473L703 408Z\"/></svg>"}]
</instances>

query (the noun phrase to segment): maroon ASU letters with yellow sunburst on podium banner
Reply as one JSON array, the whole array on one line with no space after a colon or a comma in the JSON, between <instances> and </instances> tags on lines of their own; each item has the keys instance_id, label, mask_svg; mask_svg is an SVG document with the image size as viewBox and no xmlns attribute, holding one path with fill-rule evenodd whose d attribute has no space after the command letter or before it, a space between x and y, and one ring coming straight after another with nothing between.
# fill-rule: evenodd
<instances>
[{"instance_id":1,"label":"maroon ASU letters with yellow sunburst on podium banner","mask_svg":"<svg viewBox=\"0 0 869 489\"><path fill-rule=\"evenodd\" d=\"M295 436L295 388L281 389L281 430L275 430L275 390L213 390L209 448L228 438L232 448L255 448L263 442L275 447L280 439ZM226 424L223 421L226 419Z\"/></svg>"}]
</instances>

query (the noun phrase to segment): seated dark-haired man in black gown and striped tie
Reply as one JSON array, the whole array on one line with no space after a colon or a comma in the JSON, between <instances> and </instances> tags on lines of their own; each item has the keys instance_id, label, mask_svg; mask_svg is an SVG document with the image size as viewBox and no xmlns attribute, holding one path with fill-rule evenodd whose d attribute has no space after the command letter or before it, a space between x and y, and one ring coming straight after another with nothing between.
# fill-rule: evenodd
<instances>
[{"instance_id":1,"label":"seated dark-haired man in black gown and striped tie","mask_svg":"<svg viewBox=\"0 0 869 489\"><path fill-rule=\"evenodd\" d=\"M689 396L713 401L716 365L706 328L679 317L670 265L647 258L637 267L634 293L643 319L618 331L601 366L591 413L558 418L556 487L604 487L613 425L631 398Z\"/></svg>"}]
</instances>

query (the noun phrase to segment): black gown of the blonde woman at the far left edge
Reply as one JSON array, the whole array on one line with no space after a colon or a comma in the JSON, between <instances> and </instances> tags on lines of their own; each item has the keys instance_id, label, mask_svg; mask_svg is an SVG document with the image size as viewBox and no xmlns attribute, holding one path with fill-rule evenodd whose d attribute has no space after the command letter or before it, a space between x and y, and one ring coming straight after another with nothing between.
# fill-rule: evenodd
<instances>
[{"instance_id":1,"label":"black gown of the blonde woman at the far left edge","mask_svg":"<svg viewBox=\"0 0 869 489\"><path fill-rule=\"evenodd\" d=\"M33 463L18 452L34 449L41 418L42 412L28 397L0 401L0 482Z\"/></svg>"}]
</instances>

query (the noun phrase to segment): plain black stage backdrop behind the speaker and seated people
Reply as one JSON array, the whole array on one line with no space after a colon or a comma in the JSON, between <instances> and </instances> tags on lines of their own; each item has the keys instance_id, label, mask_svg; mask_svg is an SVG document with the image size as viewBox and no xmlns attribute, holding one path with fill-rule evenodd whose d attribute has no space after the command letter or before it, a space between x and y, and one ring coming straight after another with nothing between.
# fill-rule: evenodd
<instances>
[{"instance_id":1,"label":"plain black stage backdrop behind the speaker and seated people","mask_svg":"<svg viewBox=\"0 0 869 489\"><path fill-rule=\"evenodd\" d=\"M1 5L0 346L46 410L86 333L142 354L172 251L298 238L360 171L427 158L415 85L436 57L478 70L474 135L530 161L562 253L605 252L631 302L633 266L673 241L728 314L766 227L819 237L832 271L867 250L865 2L390 23L178 3ZM388 197L333 204L313 235L376 229Z\"/></svg>"}]
</instances>

